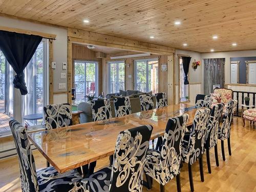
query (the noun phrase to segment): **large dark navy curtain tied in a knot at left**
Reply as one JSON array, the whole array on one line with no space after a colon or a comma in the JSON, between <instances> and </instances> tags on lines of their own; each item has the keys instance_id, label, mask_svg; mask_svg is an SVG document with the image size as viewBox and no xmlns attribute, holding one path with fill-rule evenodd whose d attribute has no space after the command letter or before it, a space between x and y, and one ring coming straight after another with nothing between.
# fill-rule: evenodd
<instances>
[{"instance_id":1,"label":"large dark navy curtain tied in a knot at left","mask_svg":"<svg viewBox=\"0 0 256 192\"><path fill-rule=\"evenodd\" d=\"M13 84L14 88L19 89L22 95L28 93L23 71L34 55L41 40L42 37L37 35L0 30L0 49L17 74L14 77Z\"/></svg>"}]
</instances>

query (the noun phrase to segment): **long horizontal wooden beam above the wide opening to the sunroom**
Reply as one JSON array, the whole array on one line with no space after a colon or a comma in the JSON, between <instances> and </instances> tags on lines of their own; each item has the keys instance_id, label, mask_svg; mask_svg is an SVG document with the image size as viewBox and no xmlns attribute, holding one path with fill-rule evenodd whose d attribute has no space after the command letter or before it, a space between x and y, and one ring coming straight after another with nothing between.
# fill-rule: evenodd
<instances>
[{"instance_id":1,"label":"long horizontal wooden beam above the wide opening to the sunroom","mask_svg":"<svg viewBox=\"0 0 256 192\"><path fill-rule=\"evenodd\" d=\"M174 53L175 49L167 46L105 35L90 31L68 28L68 37L72 42L112 47L130 51L165 54Z\"/></svg>"}]
</instances>

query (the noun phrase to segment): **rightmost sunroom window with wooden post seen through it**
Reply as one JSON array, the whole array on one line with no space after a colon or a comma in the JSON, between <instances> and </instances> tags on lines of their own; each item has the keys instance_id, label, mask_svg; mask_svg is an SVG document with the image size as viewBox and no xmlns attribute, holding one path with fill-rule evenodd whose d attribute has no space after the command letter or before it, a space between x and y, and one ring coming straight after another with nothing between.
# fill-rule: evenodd
<instances>
[{"instance_id":1,"label":"rightmost sunroom window with wooden post seen through it","mask_svg":"<svg viewBox=\"0 0 256 192\"><path fill-rule=\"evenodd\" d=\"M135 90L158 92L158 59L135 60Z\"/></svg>"}]
</instances>

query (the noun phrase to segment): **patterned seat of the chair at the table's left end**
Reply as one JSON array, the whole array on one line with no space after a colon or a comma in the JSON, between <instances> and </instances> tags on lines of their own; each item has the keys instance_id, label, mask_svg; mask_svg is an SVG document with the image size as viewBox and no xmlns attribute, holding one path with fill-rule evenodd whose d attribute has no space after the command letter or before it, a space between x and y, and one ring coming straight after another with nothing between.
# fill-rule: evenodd
<instances>
[{"instance_id":1,"label":"patterned seat of the chair at the table's left end","mask_svg":"<svg viewBox=\"0 0 256 192\"><path fill-rule=\"evenodd\" d=\"M77 188L82 177L76 170L59 174L52 166L36 170L40 192L62 192Z\"/></svg>"}]
</instances>

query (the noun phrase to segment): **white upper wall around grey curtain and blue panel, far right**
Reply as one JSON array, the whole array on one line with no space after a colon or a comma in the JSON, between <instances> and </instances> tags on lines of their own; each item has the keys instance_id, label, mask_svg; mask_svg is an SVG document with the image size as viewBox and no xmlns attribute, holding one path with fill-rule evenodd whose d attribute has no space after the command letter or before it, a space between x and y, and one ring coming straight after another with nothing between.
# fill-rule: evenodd
<instances>
[{"instance_id":1,"label":"white upper wall around grey curtain and blue panel, far right","mask_svg":"<svg viewBox=\"0 0 256 192\"><path fill-rule=\"evenodd\" d=\"M228 51L216 53L202 53L202 62L205 58L225 58L225 83L230 83L230 57L253 57L256 56L256 50L249 51ZM202 66L203 67L203 66ZM203 81L203 77L202 77Z\"/></svg>"}]
</instances>

